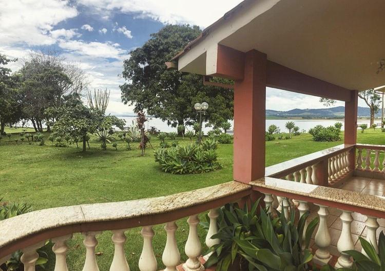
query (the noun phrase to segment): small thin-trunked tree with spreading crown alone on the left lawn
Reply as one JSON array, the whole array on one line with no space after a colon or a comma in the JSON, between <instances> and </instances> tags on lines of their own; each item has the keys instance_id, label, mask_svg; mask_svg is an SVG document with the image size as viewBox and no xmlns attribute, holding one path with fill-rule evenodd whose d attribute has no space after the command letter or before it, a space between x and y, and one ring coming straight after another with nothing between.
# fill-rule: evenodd
<instances>
[{"instance_id":1,"label":"small thin-trunked tree with spreading crown alone on the left lawn","mask_svg":"<svg viewBox=\"0 0 385 271\"><path fill-rule=\"evenodd\" d=\"M63 97L62 106L51 107L46 114L57 116L52 130L57 135L70 134L79 136L83 141L83 152L86 151L87 134L97 130L109 130L110 120L98 109L85 106L78 93Z\"/></svg>"}]
</instances>

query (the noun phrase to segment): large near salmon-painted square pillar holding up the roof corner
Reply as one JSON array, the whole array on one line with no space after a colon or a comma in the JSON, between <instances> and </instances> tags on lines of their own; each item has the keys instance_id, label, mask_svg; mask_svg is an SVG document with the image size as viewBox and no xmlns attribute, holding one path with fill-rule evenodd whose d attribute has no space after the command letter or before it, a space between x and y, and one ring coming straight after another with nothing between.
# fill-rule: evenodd
<instances>
[{"instance_id":1,"label":"large near salmon-painted square pillar holding up the roof corner","mask_svg":"<svg viewBox=\"0 0 385 271\"><path fill-rule=\"evenodd\" d=\"M234 85L234 180L265 175L266 63L264 53L245 53L243 80Z\"/></svg>"}]
</instances>

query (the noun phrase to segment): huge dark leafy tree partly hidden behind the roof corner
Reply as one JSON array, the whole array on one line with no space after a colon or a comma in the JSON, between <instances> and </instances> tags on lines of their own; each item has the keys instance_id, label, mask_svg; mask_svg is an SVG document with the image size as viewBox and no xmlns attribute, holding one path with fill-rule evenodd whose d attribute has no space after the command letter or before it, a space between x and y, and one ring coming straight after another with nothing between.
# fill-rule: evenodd
<instances>
[{"instance_id":1,"label":"huge dark leafy tree partly hidden behind the roof corner","mask_svg":"<svg viewBox=\"0 0 385 271\"><path fill-rule=\"evenodd\" d=\"M194 104L203 101L209 104L205 117L210 123L232 119L232 89L204 86L201 76L169 70L164 64L200 33L197 26L168 25L131 51L124 61L122 101L133 104L135 112L146 110L173 127L197 121Z\"/></svg>"}]
</instances>

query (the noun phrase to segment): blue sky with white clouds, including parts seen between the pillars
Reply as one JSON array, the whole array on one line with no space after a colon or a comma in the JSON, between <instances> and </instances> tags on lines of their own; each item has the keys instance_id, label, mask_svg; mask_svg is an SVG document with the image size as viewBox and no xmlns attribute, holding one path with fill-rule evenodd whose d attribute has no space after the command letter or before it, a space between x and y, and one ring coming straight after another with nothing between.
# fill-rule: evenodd
<instances>
[{"instance_id":1,"label":"blue sky with white clouds, including parts seen between the pillars","mask_svg":"<svg viewBox=\"0 0 385 271\"><path fill-rule=\"evenodd\" d=\"M218 20L241 0L0 0L0 53L17 58L30 51L60 50L85 70L89 89L110 89L107 113L132 114L121 102L123 61L151 33L167 24L198 25ZM337 102L336 105L343 105ZM360 106L365 106L359 101ZM266 109L321 108L319 98L266 89Z\"/></svg>"}]
</instances>

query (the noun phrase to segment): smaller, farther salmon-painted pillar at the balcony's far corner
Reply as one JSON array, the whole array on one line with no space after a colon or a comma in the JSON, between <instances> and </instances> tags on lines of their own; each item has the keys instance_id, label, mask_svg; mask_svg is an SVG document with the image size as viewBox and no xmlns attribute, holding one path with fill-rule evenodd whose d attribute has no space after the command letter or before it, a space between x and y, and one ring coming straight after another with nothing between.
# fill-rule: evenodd
<instances>
[{"instance_id":1,"label":"smaller, farther salmon-painted pillar at the balcony's far corner","mask_svg":"<svg viewBox=\"0 0 385 271\"><path fill-rule=\"evenodd\" d=\"M351 91L350 101L345 102L345 144L357 143L357 110L358 110L358 92ZM355 168L355 150L349 153L350 169Z\"/></svg>"}]
</instances>

